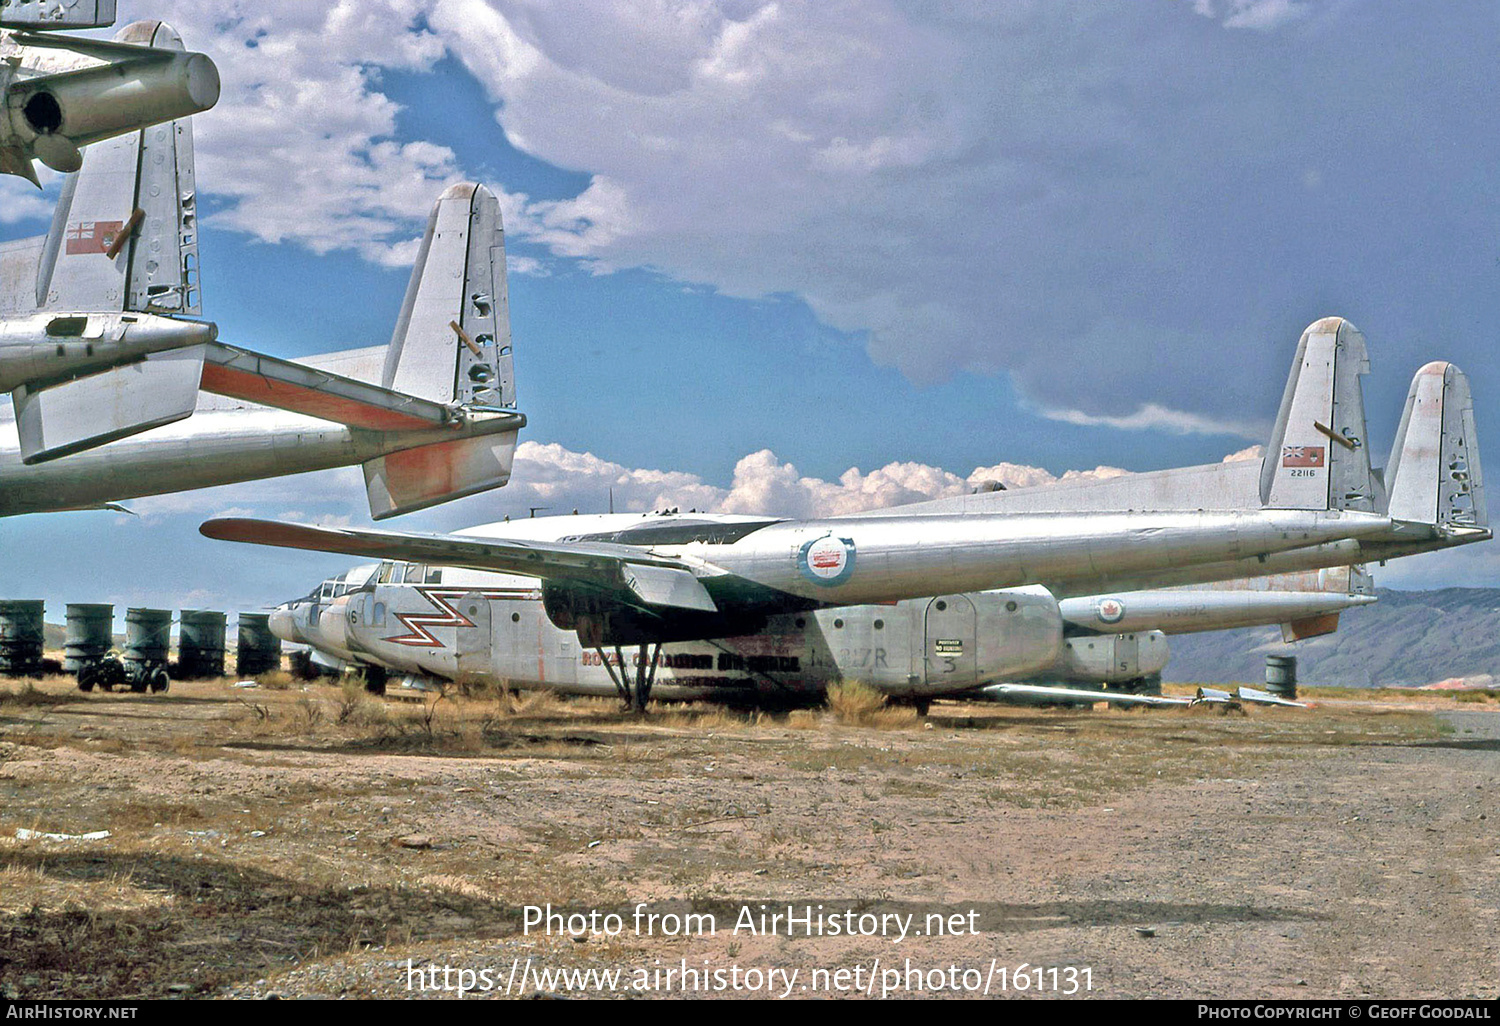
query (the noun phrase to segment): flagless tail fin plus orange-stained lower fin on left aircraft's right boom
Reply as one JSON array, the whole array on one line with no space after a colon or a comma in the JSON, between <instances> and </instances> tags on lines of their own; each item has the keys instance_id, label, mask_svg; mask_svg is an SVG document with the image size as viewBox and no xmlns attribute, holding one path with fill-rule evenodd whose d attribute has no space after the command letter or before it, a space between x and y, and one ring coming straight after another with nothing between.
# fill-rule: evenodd
<instances>
[{"instance_id":1,"label":"flagless tail fin plus orange-stained lower fin on left aircraft's right boom","mask_svg":"<svg viewBox=\"0 0 1500 1026\"><path fill-rule=\"evenodd\" d=\"M482 184L442 194L386 351L387 388L478 410L513 410L510 298L500 201ZM435 442L364 464L380 520L500 488L516 432Z\"/></svg>"}]
</instances>

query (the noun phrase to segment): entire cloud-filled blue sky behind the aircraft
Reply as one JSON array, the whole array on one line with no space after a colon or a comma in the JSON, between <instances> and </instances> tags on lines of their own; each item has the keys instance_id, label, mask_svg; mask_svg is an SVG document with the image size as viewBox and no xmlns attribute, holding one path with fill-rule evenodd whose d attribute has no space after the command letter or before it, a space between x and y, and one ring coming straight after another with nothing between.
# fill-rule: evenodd
<instances>
[{"instance_id":1,"label":"entire cloud-filled blue sky behind the aircraft","mask_svg":"<svg viewBox=\"0 0 1500 1026\"><path fill-rule=\"evenodd\" d=\"M1377 453L1434 357L1470 372L1492 428L1496 4L123 0L122 16L172 21L224 75L196 136L206 315L230 340L384 342L430 201L462 178L502 195L525 438L543 446L507 489L414 528L597 508L609 488L621 507L800 513L998 464L1216 460L1260 441L1328 314L1370 339ZM45 213L0 190L0 236ZM225 550L196 522L310 496L364 518L357 472L26 518L3 525L8 578L57 609L250 608L348 561ZM58 568L52 546L80 534L111 555ZM1500 584L1486 549L1380 579Z\"/></svg>"}]
</instances>

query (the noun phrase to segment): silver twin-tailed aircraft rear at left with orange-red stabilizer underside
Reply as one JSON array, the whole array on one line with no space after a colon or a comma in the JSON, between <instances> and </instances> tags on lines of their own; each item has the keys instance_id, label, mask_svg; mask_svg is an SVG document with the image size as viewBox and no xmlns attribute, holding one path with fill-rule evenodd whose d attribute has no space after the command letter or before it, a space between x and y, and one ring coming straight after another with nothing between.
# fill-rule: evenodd
<instances>
[{"instance_id":1,"label":"silver twin-tailed aircraft rear at left with orange-red stabilizer underside","mask_svg":"<svg viewBox=\"0 0 1500 1026\"><path fill-rule=\"evenodd\" d=\"M48 236L0 244L0 516L351 464L375 518L506 483L525 417L494 194L438 200L388 346L302 362L188 320L196 218L174 122L90 147Z\"/></svg>"}]
</instances>

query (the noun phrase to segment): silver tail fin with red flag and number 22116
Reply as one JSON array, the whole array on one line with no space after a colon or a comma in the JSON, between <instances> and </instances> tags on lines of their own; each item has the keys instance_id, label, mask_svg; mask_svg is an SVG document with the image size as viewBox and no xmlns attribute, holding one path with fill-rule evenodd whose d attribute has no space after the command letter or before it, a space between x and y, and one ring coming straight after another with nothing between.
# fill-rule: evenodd
<instances>
[{"instance_id":1,"label":"silver tail fin with red flag and number 22116","mask_svg":"<svg viewBox=\"0 0 1500 1026\"><path fill-rule=\"evenodd\" d=\"M1368 372L1365 336L1344 318L1326 316L1302 333L1262 462L1263 506L1365 512L1378 506L1359 382Z\"/></svg>"}]
</instances>

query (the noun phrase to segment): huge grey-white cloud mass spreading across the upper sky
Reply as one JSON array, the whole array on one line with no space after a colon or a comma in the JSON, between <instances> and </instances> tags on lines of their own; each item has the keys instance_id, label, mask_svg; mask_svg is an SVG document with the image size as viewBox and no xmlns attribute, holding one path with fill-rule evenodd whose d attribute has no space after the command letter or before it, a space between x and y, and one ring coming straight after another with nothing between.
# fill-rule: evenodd
<instances>
[{"instance_id":1,"label":"huge grey-white cloud mass spreading across the upper sky","mask_svg":"<svg viewBox=\"0 0 1500 1026\"><path fill-rule=\"evenodd\" d=\"M483 126L472 158L404 138L381 75L452 57L494 102L490 130L590 176L561 200L492 183L513 238L597 273L795 294L914 382L1010 375L1074 423L1245 434L1222 411L1274 399L1300 324L1342 312L1328 303L1400 296L1366 330L1410 338L1462 304L1410 296L1434 278L1412 261L1490 248L1484 219L1424 206L1480 208L1485 186L1450 170L1492 166L1500 135L1474 130L1488 108L1462 76L1490 56L1456 22L1412 33L1312 0L162 0L152 14L224 72L198 132L201 183L228 200L220 225L408 261L432 196L484 159ZM1204 40L1198 15L1258 32ZM1306 32L1246 45L1292 24ZM1392 39L1442 81L1394 74ZM1450 156L1410 177L1390 159L1424 153ZM1314 180L1340 182L1338 196Z\"/></svg>"}]
</instances>

